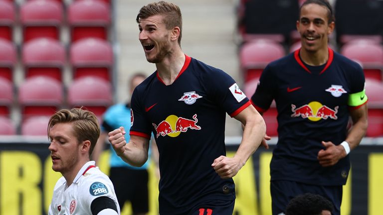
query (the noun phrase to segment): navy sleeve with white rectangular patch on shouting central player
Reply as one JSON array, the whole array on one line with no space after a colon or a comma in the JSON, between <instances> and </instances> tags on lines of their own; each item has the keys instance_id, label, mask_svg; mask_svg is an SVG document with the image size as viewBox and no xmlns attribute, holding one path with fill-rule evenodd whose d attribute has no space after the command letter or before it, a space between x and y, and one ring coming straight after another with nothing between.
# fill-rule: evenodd
<instances>
[{"instance_id":1,"label":"navy sleeve with white rectangular patch on shouting central player","mask_svg":"<svg viewBox=\"0 0 383 215\"><path fill-rule=\"evenodd\" d=\"M212 70L205 79L205 86L212 92L213 100L231 117L251 105L249 99L228 74L221 70Z\"/></svg>"}]
</instances>

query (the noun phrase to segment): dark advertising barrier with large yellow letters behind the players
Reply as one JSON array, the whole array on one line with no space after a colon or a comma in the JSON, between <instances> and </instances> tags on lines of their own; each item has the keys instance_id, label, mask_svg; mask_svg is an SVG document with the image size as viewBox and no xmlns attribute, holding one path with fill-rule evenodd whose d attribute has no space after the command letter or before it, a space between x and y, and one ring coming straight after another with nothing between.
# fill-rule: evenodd
<instances>
[{"instance_id":1,"label":"dark advertising barrier with large yellow letters behind the players","mask_svg":"<svg viewBox=\"0 0 383 215\"><path fill-rule=\"evenodd\" d=\"M228 156L240 138L227 138ZM234 177L235 215L271 215L269 194L270 149L259 148ZM108 173L108 151L100 169ZM342 215L381 215L383 211L383 139L364 139L351 153L352 171L344 187ZM0 137L0 215L46 215L53 186L61 174L51 170L46 138ZM158 179L150 170L150 213L158 214ZM128 183L127 179L127 183ZM130 205L121 213L128 215Z\"/></svg>"}]
</instances>

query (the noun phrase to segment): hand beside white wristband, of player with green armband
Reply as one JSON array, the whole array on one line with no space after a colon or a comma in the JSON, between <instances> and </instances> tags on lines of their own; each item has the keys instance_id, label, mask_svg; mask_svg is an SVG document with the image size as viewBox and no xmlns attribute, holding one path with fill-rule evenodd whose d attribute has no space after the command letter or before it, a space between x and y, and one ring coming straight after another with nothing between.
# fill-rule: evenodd
<instances>
[{"instance_id":1,"label":"hand beside white wristband, of player with green armband","mask_svg":"<svg viewBox=\"0 0 383 215\"><path fill-rule=\"evenodd\" d=\"M319 164L323 167L333 166L338 161L346 157L346 151L342 145L335 145L334 143L322 141L322 145L326 149L322 149L318 152Z\"/></svg>"}]
</instances>

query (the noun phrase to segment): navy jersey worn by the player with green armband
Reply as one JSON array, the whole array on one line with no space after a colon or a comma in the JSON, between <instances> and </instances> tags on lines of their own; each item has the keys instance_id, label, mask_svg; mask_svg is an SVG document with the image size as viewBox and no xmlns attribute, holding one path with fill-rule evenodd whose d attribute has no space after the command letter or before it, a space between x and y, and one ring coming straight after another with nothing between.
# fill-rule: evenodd
<instances>
[{"instance_id":1,"label":"navy jersey worn by the player with green armband","mask_svg":"<svg viewBox=\"0 0 383 215\"><path fill-rule=\"evenodd\" d=\"M264 69L251 100L261 112L273 99L276 103L278 143L270 164L271 180L346 183L349 156L331 167L322 167L317 156L325 149L321 141L338 145L346 139L349 108L358 108L350 107L350 95L364 91L364 84L361 66L331 49L322 66L306 65L297 50ZM367 97L360 99L365 103Z\"/></svg>"}]
</instances>

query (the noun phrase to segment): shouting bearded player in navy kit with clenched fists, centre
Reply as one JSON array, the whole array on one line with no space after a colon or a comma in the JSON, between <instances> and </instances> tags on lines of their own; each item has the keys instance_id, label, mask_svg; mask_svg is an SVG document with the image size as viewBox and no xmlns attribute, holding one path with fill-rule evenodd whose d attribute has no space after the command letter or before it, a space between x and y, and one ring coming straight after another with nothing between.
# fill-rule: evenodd
<instances>
[{"instance_id":1,"label":"shouting bearded player in navy kit with clenched fists, centre","mask_svg":"<svg viewBox=\"0 0 383 215\"><path fill-rule=\"evenodd\" d=\"M126 162L140 166L153 132L161 215L232 215L232 177L261 143L264 121L229 75L183 53L177 5L150 3L137 22L146 58L157 71L133 93L129 144L123 127L110 132L109 141ZM226 112L245 125L232 158L225 156Z\"/></svg>"}]
</instances>

